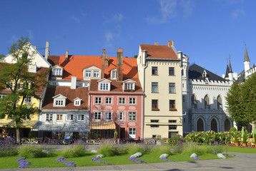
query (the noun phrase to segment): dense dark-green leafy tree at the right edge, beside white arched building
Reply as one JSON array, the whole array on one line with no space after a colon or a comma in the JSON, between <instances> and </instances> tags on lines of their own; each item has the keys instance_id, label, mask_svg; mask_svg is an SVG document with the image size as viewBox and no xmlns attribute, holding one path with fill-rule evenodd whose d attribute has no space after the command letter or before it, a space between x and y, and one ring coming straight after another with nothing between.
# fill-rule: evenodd
<instances>
[{"instance_id":1,"label":"dense dark-green leafy tree at the right edge, beside white arched building","mask_svg":"<svg viewBox=\"0 0 256 171\"><path fill-rule=\"evenodd\" d=\"M235 82L227 93L226 100L232 120L241 125L255 122L256 73L247 78L245 83Z\"/></svg>"}]
</instances>

